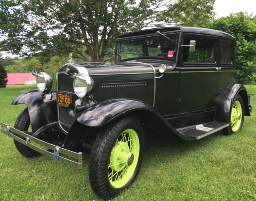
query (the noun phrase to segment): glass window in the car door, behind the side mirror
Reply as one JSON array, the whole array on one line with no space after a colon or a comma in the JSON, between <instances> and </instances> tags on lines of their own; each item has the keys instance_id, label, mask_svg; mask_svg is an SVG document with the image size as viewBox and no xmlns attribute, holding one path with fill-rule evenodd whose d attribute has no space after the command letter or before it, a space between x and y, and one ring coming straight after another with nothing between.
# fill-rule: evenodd
<instances>
[{"instance_id":1,"label":"glass window in the car door, behind the side mirror","mask_svg":"<svg viewBox=\"0 0 256 201\"><path fill-rule=\"evenodd\" d=\"M196 49L195 51L189 51L189 47L184 46L182 56L183 62L214 63L216 61L216 40L187 36L185 37L183 44L189 45L190 40L196 41Z\"/></svg>"}]
</instances>

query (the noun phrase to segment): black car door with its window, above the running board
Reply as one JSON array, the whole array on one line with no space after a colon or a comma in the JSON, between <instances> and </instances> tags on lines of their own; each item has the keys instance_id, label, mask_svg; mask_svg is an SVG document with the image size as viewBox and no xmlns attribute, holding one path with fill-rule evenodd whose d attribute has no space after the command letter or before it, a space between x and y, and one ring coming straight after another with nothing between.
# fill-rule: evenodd
<instances>
[{"instance_id":1,"label":"black car door with its window, above the running board","mask_svg":"<svg viewBox=\"0 0 256 201\"><path fill-rule=\"evenodd\" d=\"M196 41L190 51L190 41ZM210 110L216 95L216 45L218 38L184 33L180 57L180 75L175 114Z\"/></svg>"}]
</instances>

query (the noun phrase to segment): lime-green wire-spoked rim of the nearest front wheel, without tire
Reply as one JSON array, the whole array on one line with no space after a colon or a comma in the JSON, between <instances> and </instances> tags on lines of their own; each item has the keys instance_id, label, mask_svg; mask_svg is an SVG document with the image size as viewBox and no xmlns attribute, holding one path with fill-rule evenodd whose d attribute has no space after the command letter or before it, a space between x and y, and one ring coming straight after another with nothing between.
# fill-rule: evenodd
<instances>
[{"instance_id":1,"label":"lime-green wire-spoked rim of the nearest front wheel, without tire","mask_svg":"<svg viewBox=\"0 0 256 201\"><path fill-rule=\"evenodd\" d=\"M108 179L115 188L121 188L132 177L139 158L140 141L133 129L118 136L111 150L108 163Z\"/></svg>"}]
</instances>

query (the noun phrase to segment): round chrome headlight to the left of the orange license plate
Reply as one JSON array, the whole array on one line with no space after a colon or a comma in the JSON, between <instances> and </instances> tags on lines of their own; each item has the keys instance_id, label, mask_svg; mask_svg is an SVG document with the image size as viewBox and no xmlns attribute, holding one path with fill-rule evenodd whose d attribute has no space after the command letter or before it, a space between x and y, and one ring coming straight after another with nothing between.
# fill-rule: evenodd
<instances>
[{"instance_id":1,"label":"round chrome headlight to the left of the orange license plate","mask_svg":"<svg viewBox=\"0 0 256 201\"><path fill-rule=\"evenodd\" d=\"M52 77L47 73L32 73L36 76L36 85L39 91L44 92L52 87Z\"/></svg>"}]
</instances>

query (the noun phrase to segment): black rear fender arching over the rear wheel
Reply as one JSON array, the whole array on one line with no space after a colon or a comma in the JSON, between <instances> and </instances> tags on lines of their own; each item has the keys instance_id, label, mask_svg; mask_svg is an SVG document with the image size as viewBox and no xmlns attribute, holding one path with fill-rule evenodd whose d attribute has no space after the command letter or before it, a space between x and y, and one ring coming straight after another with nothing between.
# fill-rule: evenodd
<instances>
[{"instance_id":1,"label":"black rear fender arching over the rear wheel","mask_svg":"<svg viewBox=\"0 0 256 201\"><path fill-rule=\"evenodd\" d=\"M240 95L244 102L244 115L251 116L248 104L248 94L243 85L232 83L226 89L224 96L218 104L216 111L216 120L230 123L230 111L236 95Z\"/></svg>"}]
</instances>

